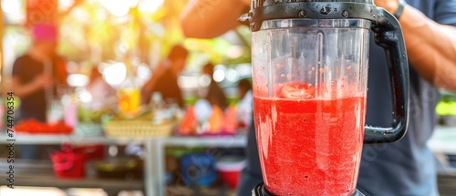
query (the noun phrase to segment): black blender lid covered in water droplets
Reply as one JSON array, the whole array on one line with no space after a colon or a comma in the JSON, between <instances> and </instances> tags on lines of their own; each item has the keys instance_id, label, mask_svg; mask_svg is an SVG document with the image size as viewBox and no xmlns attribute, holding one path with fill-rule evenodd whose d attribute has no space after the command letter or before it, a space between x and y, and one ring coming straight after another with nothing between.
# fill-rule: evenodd
<instances>
[{"instance_id":1,"label":"black blender lid covered in water droplets","mask_svg":"<svg viewBox=\"0 0 456 196\"><path fill-rule=\"evenodd\" d=\"M367 19L376 21L374 0L253 0L248 15L251 30L276 19Z\"/></svg>"}]
</instances>

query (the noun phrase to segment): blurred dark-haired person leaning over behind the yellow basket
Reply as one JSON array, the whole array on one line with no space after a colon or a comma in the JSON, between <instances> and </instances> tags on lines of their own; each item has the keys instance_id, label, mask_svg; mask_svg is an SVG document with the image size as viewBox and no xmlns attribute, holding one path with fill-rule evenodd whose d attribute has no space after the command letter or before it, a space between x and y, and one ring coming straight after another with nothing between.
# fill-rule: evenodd
<instances>
[{"instance_id":1,"label":"blurred dark-haired person leaning over behind the yellow basket","mask_svg":"<svg viewBox=\"0 0 456 196\"><path fill-rule=\"evenodd\" d=\"M160 92L161 98L167 103L175 103L183 107L181 88L178 77L185 67L189 52L180 45L173 46L166 60L155 68L150 80L141 88L141 102L149 103L154 92Z\"/></svg>"}]
</instances>

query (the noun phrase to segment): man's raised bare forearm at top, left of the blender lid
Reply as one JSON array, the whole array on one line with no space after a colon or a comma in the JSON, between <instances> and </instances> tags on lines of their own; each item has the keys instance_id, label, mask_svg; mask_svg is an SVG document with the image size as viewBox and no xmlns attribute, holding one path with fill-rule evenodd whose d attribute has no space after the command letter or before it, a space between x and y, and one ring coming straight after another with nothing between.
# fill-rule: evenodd
<instances>
[{"instance_id":1,"label":"man's raised bare forearm at top, left of the blender lid","mask_svg":"<svg viewBox=\"0 0 456 196\"><path fill-rule=\"evenodd\" d=\"M239 26L248 0L191 0L181 15L185 36L213 38Z\"/></svg>"}]
</instances>

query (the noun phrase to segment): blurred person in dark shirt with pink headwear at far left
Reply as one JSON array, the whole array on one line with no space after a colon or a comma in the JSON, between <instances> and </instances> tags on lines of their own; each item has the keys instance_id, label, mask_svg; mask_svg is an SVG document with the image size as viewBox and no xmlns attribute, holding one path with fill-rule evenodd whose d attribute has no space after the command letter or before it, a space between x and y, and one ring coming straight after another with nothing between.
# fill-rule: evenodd
<instances>
[{"instance_id":1,"label":"blurred person in dark shirt with pink headwear at far left","mask_svg":"<svg viewBox=\"0 0 456 196\"><path fill-rule=\"evenodd\" d=\"M57 26L33 26L32 36L32 46L13 66L11 90L21 99L16 120L47 122L49 103L58 98L57 87L67 86L67 70L65 60L56 53ZM35 145L20 146L19 150L23 159L40 156Z\"/></svg>"}]
</instances>

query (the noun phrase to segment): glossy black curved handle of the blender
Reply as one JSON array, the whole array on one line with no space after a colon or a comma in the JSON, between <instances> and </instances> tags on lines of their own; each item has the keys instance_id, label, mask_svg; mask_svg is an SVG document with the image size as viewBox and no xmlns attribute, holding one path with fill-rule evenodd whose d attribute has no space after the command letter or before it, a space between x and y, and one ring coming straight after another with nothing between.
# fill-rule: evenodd
<instances>
[{"instance_id":1,"label":"glossy black curved handle of the blender","mask_svg":"<svg viewBox=\"0 0 456 196\"><path fill-rule=\"evenodd\" d=\"M396 17L380 7L375 24L375 42L387 55L394 113L391 128L365 127L365 144L398 141L409 127L409 62L402 29Z\"/></svg>"}]
</instances>

